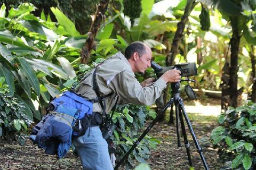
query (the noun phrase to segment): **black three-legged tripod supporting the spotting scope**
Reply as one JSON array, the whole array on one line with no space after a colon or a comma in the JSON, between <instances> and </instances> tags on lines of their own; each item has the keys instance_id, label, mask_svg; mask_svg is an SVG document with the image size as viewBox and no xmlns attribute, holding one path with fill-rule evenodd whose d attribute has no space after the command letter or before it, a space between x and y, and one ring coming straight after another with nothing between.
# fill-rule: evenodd
<instances>
[{"instance_id":1,"label":"black three-legged tripod supporting the spotting scope","mask_svg":"<svg viewBox=\"0 0 256 170\"><path fill-rule=\"evenodd\" d=\"M188 163L189 166L192 167L192 160L190 157L190 151L189 151L189 147L190 147L190 143L188 142L187 139L187 133L186 133L186 129L185 129L185 124L183 121L183 116L185 118L185 121L188 125L189 131L192 135L193 141L196 145L197 148L197 152L199 153L202 162L204 164L204 167L206 170L209 170L204 155L203 155L203 150L202 148L199 146L199 143L196 139L196 135L193 131L192 125L189 121L187 112L185 111L185 107L183 104L183 100L180 98L180 82L176 82L176 83L171 83L171 88L172 88L172 96L173 98L171 98L166 105L164 106L164 108L162 109L162 111L157 115L157 117L153 120L152 123L150 123L150 125L148 126L148 128L140 135L140 137L138 138L137 141L134 142L133 146L131 147L131 149L129 151L126 152L126 154L124 155L124 157L117 163L117 165L115 166L115 170L118 169L118 167L125 161L125 159L129 156L129 154L132 152L132 150L137 147L139 145L139 143L141 142L141 140L146 136L146 134L150 131L151 128L153 128L153 126L156 124L156 122L158 121L158 119L163 115L163 113L166 111L167 108L169 108L172 104L175 105L175 116L176 116L176 130L177 130L177 138L178 138L178 147L181 147L181 143L180 143L180 126L181 125L181 130L182 130L182 135L183 135L183 139L185 142L185 148L187 151L187 156L188 156ZM182 116L183 115L183 116Z\"/></svg>"}]
</instances>

